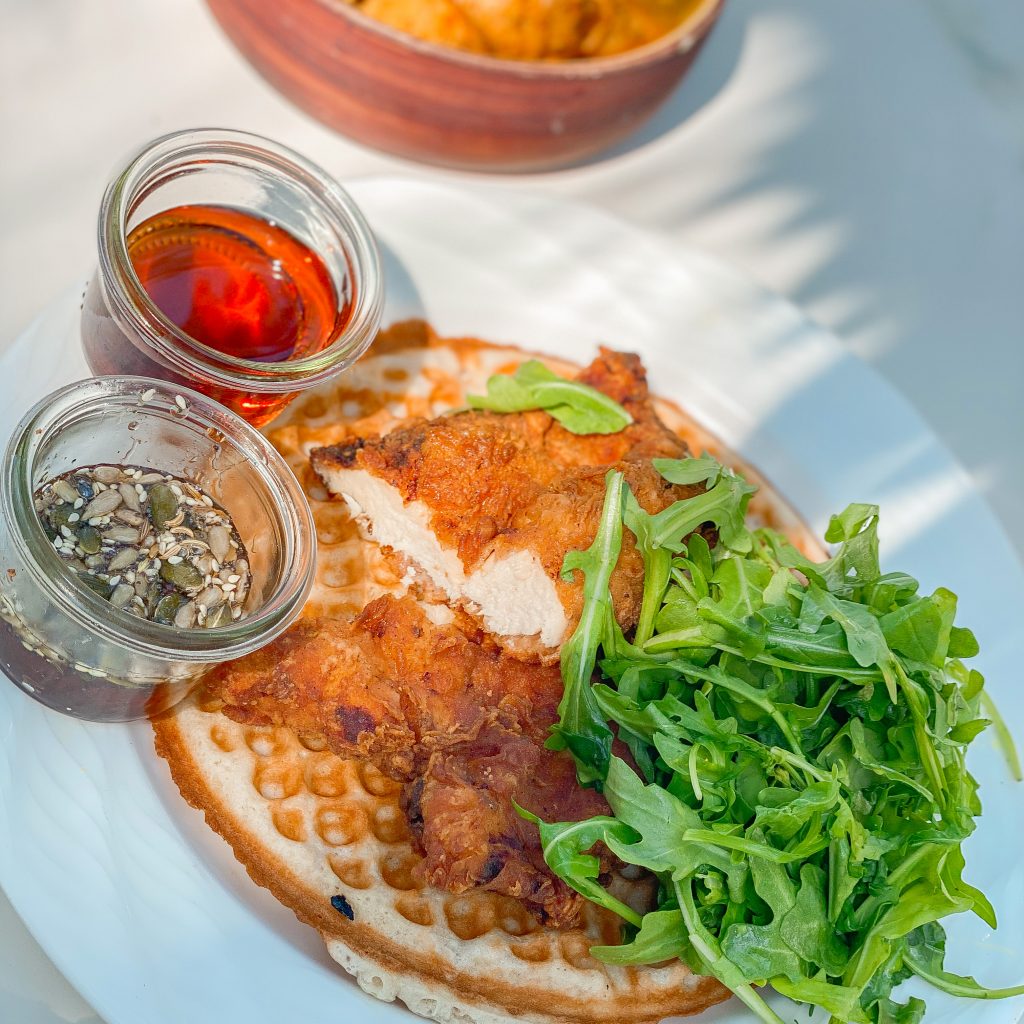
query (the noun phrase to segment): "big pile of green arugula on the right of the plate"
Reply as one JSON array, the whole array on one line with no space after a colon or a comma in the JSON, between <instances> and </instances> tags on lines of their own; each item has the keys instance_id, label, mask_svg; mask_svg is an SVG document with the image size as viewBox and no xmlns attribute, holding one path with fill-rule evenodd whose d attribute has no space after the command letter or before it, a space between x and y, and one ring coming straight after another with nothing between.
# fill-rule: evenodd
<instances>
[{"instance_id":1,"label":"big pile of green arugula on the right of the plate","mask_svg":"<svg viewBox=\"0 0 1024 1024\"><path fill-rule=\"evenodd\" d=\"M594 955L680 957L772 1024L765 984L853 1024L919 1021L920 999L892 995L911 975L956 995L1024 994L943 966L948 914L995 927L963 878L981 811L969 744L994 723L1021 776L965 664L978 644L954 625L955 595L882 571L873 505L835 516L836 554L812 562L748 528L754 488L714 459L655 466L706 489L648 515L610 471L597 536L563 567L583 573L585 603L549 745L614 816L538 825L551 869L623 919L624 944ZM630 640L608 588L624 529L645 567ZM598 843L656 876L655 909L606 891Z\"/></svg>"}]
</instances>

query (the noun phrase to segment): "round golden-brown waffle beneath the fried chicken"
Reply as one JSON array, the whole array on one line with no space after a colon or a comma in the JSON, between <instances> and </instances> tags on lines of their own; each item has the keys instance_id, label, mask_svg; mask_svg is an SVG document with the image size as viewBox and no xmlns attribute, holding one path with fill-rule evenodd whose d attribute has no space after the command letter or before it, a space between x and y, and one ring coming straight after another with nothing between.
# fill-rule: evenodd
<instances>
[{"instance_id":1,"label":"round golden-brown waffle beneath the fried chicken","mask_svg":"<svg viewBox=\"0 0 1024 1024\"><path fill-rule=\"evenodd\" d=\"M411 415L459 406L486 378L526 353L475 339L441 339L425 324L400 324L340 385L296 402L267 431L309 498L319 551L305 613L349 616L402 581L360 540L343 502L330 500L308 464L312 447L387 430ZM546 361L570 373L571 365ZM663 419L694 452L738 466L677 407ZM755 517L810 540L798 518L762 485ZM588 905L580 928L540 926L519 902L495 893L455 896L414 878L418 861L398 806L398 785L280 727L239 725L203 690L154 723L157 752L182 796L231 846L252 879L315 928L331 955L369 993L402 1000L443 1024L647 1024L696 1013L727 997L717 982L681 963L608 967L589 954L620 941L616 918ZM615 880L638 908L642 878ZM333 900L333 902L332 902ZM343 1019L339 1015L339 1020Z\"/></svg>"}]
</instances>

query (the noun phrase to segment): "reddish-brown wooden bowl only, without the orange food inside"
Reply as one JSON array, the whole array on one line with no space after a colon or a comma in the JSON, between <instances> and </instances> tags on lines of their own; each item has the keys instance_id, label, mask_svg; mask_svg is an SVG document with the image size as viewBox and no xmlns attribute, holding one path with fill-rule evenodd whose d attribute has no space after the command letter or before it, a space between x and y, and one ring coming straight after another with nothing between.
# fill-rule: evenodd
<instances>
[{"instance_id":1,"label":"reddish-brown wooden bowl only, without the orange food inside","mask_svg":"<svg viewBox=\"0 0 1024 1024\"><path fill-rule=\"evenodd\" d=\"M506 60L422 42L344 0L207 0L276 89L359 142L476 170L574 163L625 138L683 77L724 0L609 57Z\"/></svg>"}]
</instances>

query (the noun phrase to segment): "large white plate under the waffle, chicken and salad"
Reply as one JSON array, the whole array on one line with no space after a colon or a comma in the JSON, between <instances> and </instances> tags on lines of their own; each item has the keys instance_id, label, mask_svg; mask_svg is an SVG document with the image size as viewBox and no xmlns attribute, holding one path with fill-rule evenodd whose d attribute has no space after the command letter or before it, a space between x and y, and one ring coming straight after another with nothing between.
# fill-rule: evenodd
<instances>
[{"instance_id":1,"label":"large white plate under the waffle, chicken and salad","mask_svg":"<svg viewBox=\"0 0 1024 1024\"><path fill-rule=\"evenodd\" d=\"M908 403L830 335L705 256L539 197L399 180L352 187L385 251L388 321L587 359L640 352L680 400L817 528L854 500L883 507L889 566L961 595L978 667L1024 737L1024 571L964 471ZM78 295L0 358L0 437L87 371ZM1024 975L1024 786L990 739L971 767L986 813L968 877L1000 911L949 923L949 965L990 984ZM177 796L144 724L91 726L0 687L0 884L57 967L110 1024L412 1021L327 958ZM1014 1024L1024 1000L927 992L930 1024ZM734 1000L706 1020L746 1019Z\"/></svg>"}]
</instances>

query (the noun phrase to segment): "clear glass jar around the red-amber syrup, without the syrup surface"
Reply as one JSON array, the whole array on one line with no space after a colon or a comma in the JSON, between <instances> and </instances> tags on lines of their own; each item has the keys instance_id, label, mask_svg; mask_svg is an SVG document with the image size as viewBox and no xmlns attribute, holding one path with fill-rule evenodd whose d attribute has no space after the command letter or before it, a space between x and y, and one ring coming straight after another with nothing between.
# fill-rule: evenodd
<instances>
[{"instance_id":1,"label":"clear glass jar around the red-amber syrup, without the syrup surface","mask_svg":"<svg viewBox=\"0 0 1024 1024\"><path fill-rule=\"evenodd\" d=\"M178 206L219 206L283 227L324 261L339 308L338 336L314 354L281 362L240 358L183 332L150 298L128 236ZM259 135L175 132L145 145L108 185L99 208L98 268L82 308L82 347L96 375L157 377L201 391L254 426L340 374L369 347L384 304L380 254L351 197L325 171Z\"/></svg>"}]
</instances>

